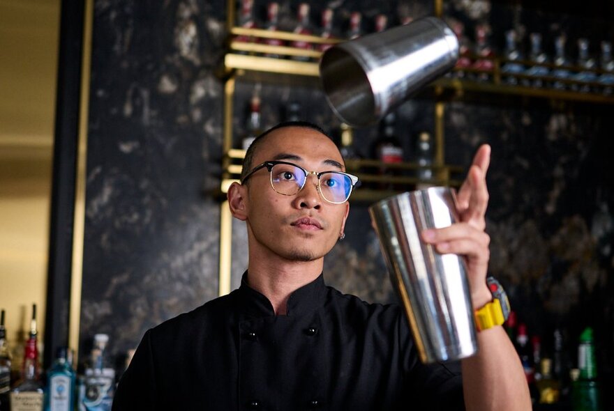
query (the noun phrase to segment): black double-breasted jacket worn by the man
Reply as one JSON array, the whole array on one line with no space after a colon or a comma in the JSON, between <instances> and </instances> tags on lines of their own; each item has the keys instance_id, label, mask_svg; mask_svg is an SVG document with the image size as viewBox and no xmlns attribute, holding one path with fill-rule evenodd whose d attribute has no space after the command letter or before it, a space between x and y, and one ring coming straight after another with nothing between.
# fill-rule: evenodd
<instances>
[{"instance_id":1,"label":"black double-breasted jacket worn by the man","mask_svg":"<svg viewBox=\"0 0 614 411\"><path fill-rule=\"evenodd\" d=\"M457 364L419 361L402 309L324 284L274 315L247 285L149 329L113 410L463 410Z\"/></svg>"}]
</instances>

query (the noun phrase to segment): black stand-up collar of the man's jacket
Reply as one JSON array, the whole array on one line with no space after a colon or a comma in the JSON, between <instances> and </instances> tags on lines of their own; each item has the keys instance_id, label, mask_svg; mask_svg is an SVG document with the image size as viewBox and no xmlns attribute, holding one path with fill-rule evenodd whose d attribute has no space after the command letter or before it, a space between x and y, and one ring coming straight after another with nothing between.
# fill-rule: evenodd
<instances>
[{"instance_id":1,"label":"black stand-up collar of the man's jacket","mask_svg":"<svg viewBox=\"0 0 614 411\"><path fill-rule=\"evenodd\" d=\"M241 286L239 286L239 301L242 309L250 316L274 316L273 305L269 299L248 285L247 276L246 271L241 277ZM309 284L297 288L288 297L286 316L300 316L322 307L326 290L327 286L324 284L322 274Z\"/></svg>"}]
</instances>

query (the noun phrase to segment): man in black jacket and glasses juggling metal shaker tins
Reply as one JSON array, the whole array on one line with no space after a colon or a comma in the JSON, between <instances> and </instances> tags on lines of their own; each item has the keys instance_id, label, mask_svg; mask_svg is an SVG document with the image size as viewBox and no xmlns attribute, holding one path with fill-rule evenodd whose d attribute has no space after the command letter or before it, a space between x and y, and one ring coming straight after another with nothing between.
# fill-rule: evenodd
<instances>
[{"instance_id":1,"label":"man in black jacket and glasses juggling metal shaker tins","mask_svg":"<svg viewBox=\"0 0 614 411\"><path fill-rule=\"evenodd\" d=\"M465 256L477 309L493 300L489 161L481 146L458 192L460 222L421 233L438 252ZM113 409L530 410L500 324L479 330L477 355L425 365L400 306L325 285L324 256L345 236L356 182L316 125L282 123L257 137L227 194L248 233L241 286L149 329Z\"/></svg>"}]
</instances>

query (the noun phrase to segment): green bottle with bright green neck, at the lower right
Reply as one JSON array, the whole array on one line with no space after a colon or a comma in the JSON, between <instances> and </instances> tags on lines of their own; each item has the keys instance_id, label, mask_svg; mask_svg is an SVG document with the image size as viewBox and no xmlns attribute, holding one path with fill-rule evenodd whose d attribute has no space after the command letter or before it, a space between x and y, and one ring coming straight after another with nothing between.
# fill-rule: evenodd
<instances>
[{"instance_id":1,"label":"green bottle with bright green neck, at the lower right","mask_svg":"<svg viewBox=\"0 0 614 411\"><path fill-rule=\"evenodd\" d=\"M578 346L578 379L574 382L574 411L601 410L599 385L597 383L597 362L594 352L592 328L587 327L580 336Z\"/></svg>"}]
</instances>

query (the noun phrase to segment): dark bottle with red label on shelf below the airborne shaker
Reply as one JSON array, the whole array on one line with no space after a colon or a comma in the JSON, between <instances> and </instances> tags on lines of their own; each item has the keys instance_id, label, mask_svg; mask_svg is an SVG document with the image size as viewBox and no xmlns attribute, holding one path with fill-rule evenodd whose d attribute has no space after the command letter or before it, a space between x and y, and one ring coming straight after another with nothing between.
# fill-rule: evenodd
<instances>
[{"instance_id":1,"label":"dark bottle with red label on shelf below the airborne shaker","mask_svg":"<svg viewBox=\"0 0 614 411\"><path fill-rule=\"evenodd\" d=\"M385 164L397 164L403 162L403 146L396 137L395 130L396 114L391 112L380 123L380 135L375 141L375 158L384 163L380 167L380 176L398 176L400 170L387 167ZM378 185L380 189L396 189L398 185L382 180Z\"/></svg>"}]
</instances>

